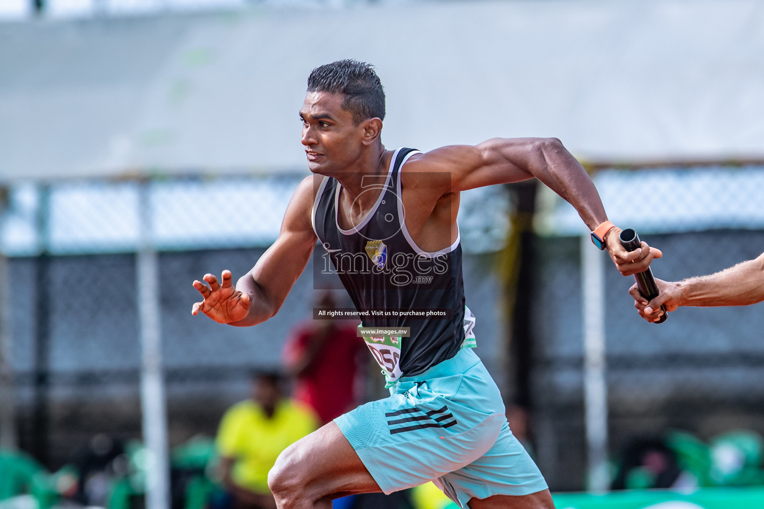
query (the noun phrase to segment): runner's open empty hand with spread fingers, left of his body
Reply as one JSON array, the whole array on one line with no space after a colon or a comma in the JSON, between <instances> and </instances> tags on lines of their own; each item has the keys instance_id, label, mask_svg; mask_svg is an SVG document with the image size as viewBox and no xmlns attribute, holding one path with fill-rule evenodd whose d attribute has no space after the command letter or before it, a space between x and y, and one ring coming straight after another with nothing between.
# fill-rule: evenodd
<instances>
[{"instance_id":1,"label":"runner's open empty hand with spread fingers, left of his body","mask_svg":"<svg viewBox=\"0 0 764 509\"><path fill-rule=\"evenodd\" d=\"M222 285L212 274L205 274L202 279L209 283L209 287L201 281L193 282L193 287L199 290L204 300L193 304L191 314L196 316L199 311L202 311L219 324L230 324L247 317L252 305L252 298L249 294L239 292L234 288L230 270L223 271Z\"/></svg>"}]
</instances>

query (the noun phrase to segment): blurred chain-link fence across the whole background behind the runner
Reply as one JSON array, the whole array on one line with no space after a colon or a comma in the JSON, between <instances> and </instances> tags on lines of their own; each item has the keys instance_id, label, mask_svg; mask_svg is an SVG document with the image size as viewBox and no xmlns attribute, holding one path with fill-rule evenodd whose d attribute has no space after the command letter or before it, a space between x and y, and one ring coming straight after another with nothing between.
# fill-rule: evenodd
<instances>
[{"instance_id":1,"label":"blurred chain-link fence across the whole background behind the runner","mask_svg":"<svg viewBox=\"0 0 764 509\"><path fill-rule=\"evenodd\" d=\"M21 447L57 467L95 433L141 437L137 253L147 246L157 253L168 441L213 435L225 408L248 396L251 369L280 364L284 340L310 315L314 285L307 270L276 317L242 329L192 317L199 297L191 282L222 269L247 272L277 237L301 178L9 186L2 346ZM610 219L663 250L657 277L716 272L764 251L762 166L602 169L594 179ZM506 389L510 414L523 409L526 422L511 415L510 422L518 435L527 424L524 438L550 486L581 489L588 450L581 235L588 232L568 205L527 183L464 193L459 222L478 354ZM607 264L610 459L672 429L706 441L739 428L764 432L757 308L680 308L665 324L647 324L626 293L631 280Z\"/></svg>"}]
</instances>

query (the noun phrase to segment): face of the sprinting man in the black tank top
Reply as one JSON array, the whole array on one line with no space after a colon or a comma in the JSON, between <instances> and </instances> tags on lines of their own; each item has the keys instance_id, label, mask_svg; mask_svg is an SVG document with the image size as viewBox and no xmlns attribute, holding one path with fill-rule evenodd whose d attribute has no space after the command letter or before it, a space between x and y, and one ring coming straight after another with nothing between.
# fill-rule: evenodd
<instances>
[{"instance_id":1,"label":"face of the sprinting man in the black tank top","mask_svg":"<svg viewBox=\"0 0 764 509\"><path fill-rule=\"evenodd\" d=\"M364 122L354 124L351 112L342 108L342 95L308 92L299 116L310 171L332 175L361 156Z\"/></svg>"}]
</instances>

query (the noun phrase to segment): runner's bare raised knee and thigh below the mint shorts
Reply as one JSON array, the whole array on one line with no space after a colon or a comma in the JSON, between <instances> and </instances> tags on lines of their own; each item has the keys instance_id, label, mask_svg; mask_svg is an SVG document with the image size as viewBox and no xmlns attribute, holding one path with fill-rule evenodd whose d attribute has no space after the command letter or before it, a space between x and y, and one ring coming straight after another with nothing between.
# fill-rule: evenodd
<instances>
[{"instance_id":1,"label":"runner's bare raised knee and thigh below the mint shorts","mask_svg":"<svg viewBox=\"0 0 764 509\"><path fill-rule=\"evenodd\" d=\"M270 470L268 484L277 501L295 495L318 501L380 491L334 422L284 449Z\"/></svg>"}]
</instances>

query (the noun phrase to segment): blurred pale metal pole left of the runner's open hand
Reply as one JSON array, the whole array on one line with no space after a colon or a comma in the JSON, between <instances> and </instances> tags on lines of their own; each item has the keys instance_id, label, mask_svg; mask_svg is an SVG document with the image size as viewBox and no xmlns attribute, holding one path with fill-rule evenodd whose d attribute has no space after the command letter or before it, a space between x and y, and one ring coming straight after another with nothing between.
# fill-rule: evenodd
<instances>
[{"instance_id":1,"label":"blurred pale metal pole left of the runner's open hand","mask_svg":"<svg viewBox=\"0 0 764 509\"><path fill-rule=\"evenodd\" d=\"M150 182L141 182L141 246L136 257L138 314L141 321L141 411L147 448L146 507L170 506L170 466L167 458L167 408L162 373L159 260L152 241Z\"/></svg>"}]
</instances>

